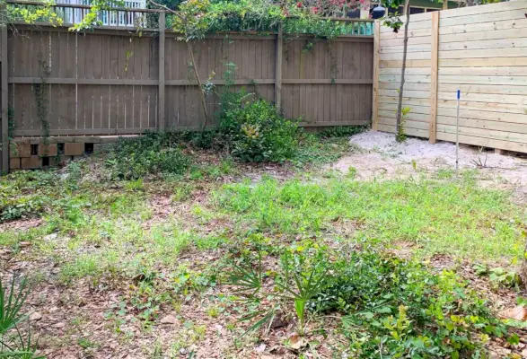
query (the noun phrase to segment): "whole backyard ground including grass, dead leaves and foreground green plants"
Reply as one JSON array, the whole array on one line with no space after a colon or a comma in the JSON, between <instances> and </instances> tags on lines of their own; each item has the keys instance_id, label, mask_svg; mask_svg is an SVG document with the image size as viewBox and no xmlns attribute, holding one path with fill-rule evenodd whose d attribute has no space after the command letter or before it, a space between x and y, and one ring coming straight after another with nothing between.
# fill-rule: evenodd
<instances>
[{"instance_id":1,"label":"whole backyard ground including grass, dead leaves and foreground green plants","mask_svg":"<svg viewBox=\"0 0 527 359\"><path fill-rule=\"evenodd\" d=\"M525 357L497 315L527 296L522 185L333 135L282 164L183 143L170 175L116 151L2 178L0 270L28 279L38 352ZM401 168L366 176L365 156Z\"/></svg>"}]
</instances>

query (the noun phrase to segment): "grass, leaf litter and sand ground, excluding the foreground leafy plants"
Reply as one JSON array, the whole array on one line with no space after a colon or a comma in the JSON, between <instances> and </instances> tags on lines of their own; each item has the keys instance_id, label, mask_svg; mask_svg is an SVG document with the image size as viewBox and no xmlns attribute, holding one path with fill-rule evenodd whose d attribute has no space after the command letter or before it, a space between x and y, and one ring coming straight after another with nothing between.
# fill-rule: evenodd
<instances>
[{"instance_id":1,"label":"grass, leaf litter and sand ground, excluding the foreground leafy plants","mask_svg":"<svg viewBox=\"0 0 527 359\"><path fill-rule=\"evenodd\" d=\"M268 291L284 252L323 248L353 256L371 248L417 258L431 273L447 270L447 276L468 279L496 312L525 297L517 281L507 279L523 254L525 208L509 192L491 188L521 192L521 179L499 180L497 168L477 169L470 160L484 154L470 149L462 150L466 168L456 179L449 168L451 144L431 150L420 140L392 144L390 135L373 133L353 136L351 143L349 148L340 138L306 153L316 154L317 165L248 165L185 149L194 163L175 178L108 180L106 159L93 157L46 178L19 172L3 179L4 192L17 191L19 202L44 204L39 212L0 223L0 270L31 281L28 314L40 353L361 357L352 334L367 330L343 325L345 311L310 312L307 334L299 337L291 302L240 301L239 288L226 278L233 263L256 263L255 248L263 253ZM335 153L343 157L336 161ZM522 159L490 153L490 163L524 176ZM492 186L478 185L491 175ZM498 280L481 269L496 267L505 273ZM242 336L255 321L242 318L277 303L280 315L268 332ZM493 357L527 356L525 330L512 330L518 343L490 339Z\"/></svg>"}]
</instances>

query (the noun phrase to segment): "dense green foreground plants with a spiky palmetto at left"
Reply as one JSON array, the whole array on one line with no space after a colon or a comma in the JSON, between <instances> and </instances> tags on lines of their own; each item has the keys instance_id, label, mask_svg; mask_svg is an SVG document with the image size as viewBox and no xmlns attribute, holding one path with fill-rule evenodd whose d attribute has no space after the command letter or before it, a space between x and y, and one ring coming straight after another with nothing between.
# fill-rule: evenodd
<instances>
[{"instance_id":1,"label":"dense green foreground plants with a spiky palmetto at left","mask_svg":"<svg viewBox=\"0 0 527 359\"><path fill-rule=\"evenodd\" d=\"M311 241L285 249L276 274L268 276L261 263L259 253L256 266L234 267L230 282L250 302L273 299L268 311L245 318L259 319L250 330L294 311L304 336L309 317L337 311L347 355L361 358L478 357L489 337L506 336L486 300L452 272L435 275L417 262L373 250L343 254ZM307 346L302 340L293 345Z\"/></svg>"}]
</instances>

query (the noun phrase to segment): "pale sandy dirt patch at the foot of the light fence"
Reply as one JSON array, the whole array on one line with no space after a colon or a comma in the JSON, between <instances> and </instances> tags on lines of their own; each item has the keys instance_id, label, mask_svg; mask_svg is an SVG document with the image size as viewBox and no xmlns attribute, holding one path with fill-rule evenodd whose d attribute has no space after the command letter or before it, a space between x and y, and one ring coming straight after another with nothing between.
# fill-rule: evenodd
<instances>
[{"instance_id":1,"label":"pale sandy dirt patch at the foot of the light fence","mask_svg":"<svg viewBox=\"0 0 527 359\"><path fill-rule=\"evenodd\" d=\"M350 171L355 168L359 180L394 179L437 175L455 171L456 145L439 141L430 144L425 139L408 138L400 144L395 135L383 132L363 132L352 136L350 144L358 151L342 157L332 168ZM523 153L498 154L494 150L460 145L459 168L461 171L478 169L478 179L483 186L511 189L514 199L527 203L527 155Z\"/></svg>"}]
</instances>

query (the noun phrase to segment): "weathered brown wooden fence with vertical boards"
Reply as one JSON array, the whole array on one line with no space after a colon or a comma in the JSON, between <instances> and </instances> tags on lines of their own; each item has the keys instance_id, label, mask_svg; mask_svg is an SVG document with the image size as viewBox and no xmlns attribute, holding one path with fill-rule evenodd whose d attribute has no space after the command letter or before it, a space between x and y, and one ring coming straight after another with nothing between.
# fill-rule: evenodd
<instances>
[{"instance_id":1,"label":"weathered brown wooden fence with vertical boards","mask_svg":"<svg viewBox=\"0 0 527 359\"><path fill-rule=\"evenodd\" d=\"M12 136L202 127L205 118L187 45L165 31L165 13L155 15L159 28L142 31L101 27L78 33L67 25L24 24L4 31L2 100L5 104L8 94ZM302 126L364 125L371 119L373 36L327 41L230 33L206 36L193 46L199 75L204 82L210 76L216 92L234 64L232 91L245 86L275 101L285 117L302 118ZM219 108L216 92L206 98L209 114ZM3 110L7 118L7 107ZM215 126L216 117L210 118L206 126ZM7 121L2 123L6 127Z\"/></svg>"}]
</instances>

